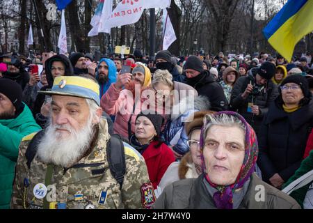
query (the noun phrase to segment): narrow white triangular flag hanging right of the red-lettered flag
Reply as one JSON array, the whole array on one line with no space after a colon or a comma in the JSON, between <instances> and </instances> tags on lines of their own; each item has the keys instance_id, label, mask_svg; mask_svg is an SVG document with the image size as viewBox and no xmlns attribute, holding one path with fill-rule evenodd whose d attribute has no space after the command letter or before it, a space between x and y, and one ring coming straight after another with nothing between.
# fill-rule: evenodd
<instances>
[{"instance_id":1,"label":"narrow white triangular flag hanging right of the red-lettered flag","mask_svg":"<svg viewBox=\"0 0 313 223\"><path fill-rule=\"evenodd\" d=\"M168 47L176 40L174 28L170 17L168 16L168 10L163 9L163 50L167 50Z\"/></svg>"}]
</instances>

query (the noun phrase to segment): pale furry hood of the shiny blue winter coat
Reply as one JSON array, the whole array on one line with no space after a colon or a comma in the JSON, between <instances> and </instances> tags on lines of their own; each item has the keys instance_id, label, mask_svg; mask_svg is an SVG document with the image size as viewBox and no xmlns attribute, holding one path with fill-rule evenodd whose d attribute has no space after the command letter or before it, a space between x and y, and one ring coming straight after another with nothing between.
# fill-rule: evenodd
<instances>
[{"instance_id":1,"label":"pale furry hood of the shiny blue winter coat","mask_svg":"<svg viewBox=\"0 0 313 223\"><path fill-rule=\"evenodd\" d=\"M180 100L179 103L172 107L172 114L170 115L170 119L175 120L189 110L206 111L210 108L211 104L206 96L200 95L195 98L193 95L189 95L188 97Z\"/></svg>"}]
</instances>

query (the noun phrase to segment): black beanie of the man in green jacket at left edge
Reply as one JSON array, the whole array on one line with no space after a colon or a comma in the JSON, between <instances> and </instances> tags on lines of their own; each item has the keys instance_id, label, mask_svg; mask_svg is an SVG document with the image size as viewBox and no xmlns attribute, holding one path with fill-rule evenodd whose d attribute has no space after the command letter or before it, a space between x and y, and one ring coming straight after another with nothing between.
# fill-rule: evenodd
<instances>
[{"instance_id":1,"label":"black beanie of the man in green jacket at left edge","mask_svg":"<svg viewBox=\"0 0 313 223\"><path fill-rule=\"evenodd\" d=\"M22 87L11 79L0 78L0 93L6 95L12 102L15 109L18 111L22 103Z\"/></svg>"}]
</instances>

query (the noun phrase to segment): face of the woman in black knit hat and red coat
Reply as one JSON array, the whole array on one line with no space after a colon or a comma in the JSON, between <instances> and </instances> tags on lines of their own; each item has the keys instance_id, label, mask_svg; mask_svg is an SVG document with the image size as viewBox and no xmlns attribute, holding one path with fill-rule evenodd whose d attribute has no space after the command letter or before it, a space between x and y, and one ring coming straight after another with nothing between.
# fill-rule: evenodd
<instances>
[{"instance_id":1,"label":"face of the woman in black knit hat and red coat","mask_svg":"<svg viewBox=\"0 0 313 223\"><path fill-rule=\"evenodd\" d=\"M151 141L157 134L149 118L140 116L135 123L136 138L143 141Z\"/></svg>"}]
</instances>

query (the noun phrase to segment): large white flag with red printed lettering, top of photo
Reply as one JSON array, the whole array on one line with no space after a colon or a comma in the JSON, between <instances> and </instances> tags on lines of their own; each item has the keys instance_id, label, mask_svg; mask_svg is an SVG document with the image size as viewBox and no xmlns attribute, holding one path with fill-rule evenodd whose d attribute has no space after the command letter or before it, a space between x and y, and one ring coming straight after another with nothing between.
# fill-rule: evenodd
<instances>
[{"instance_id":1,"label":"large white flag with red printed lettering, top of photo","mask_svg":"<svg viewBox=\"0 0 313 223\"><path fill-rule=\"evenodd\" d=\"M138 22L147 8L166 8L170 6L170 0L122 0L113 10L111 16L106 19L99 31L112 27L124 26Z\"/></svg>"}]
</instances>

